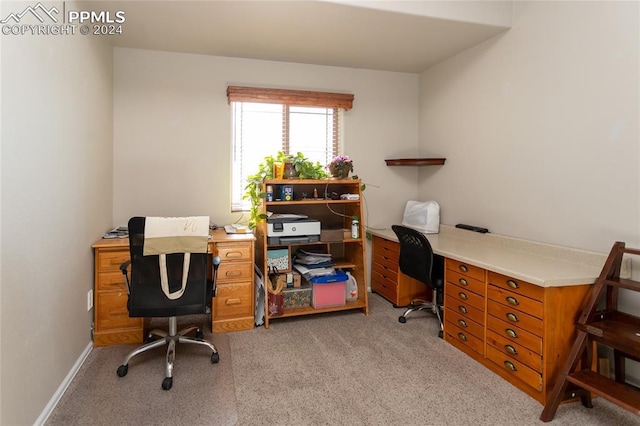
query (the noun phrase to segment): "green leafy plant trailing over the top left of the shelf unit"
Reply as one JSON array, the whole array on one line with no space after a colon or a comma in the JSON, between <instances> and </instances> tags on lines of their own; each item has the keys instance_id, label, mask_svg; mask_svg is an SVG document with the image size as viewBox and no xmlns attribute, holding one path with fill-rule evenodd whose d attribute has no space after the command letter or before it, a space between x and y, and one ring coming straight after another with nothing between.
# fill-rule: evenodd
<instances>
[{"instance_id":1,"label":"green leafy plant trailing over the top left of the shelf unit","mask_svg":"<svg viewBox=\"0 0 640 426\"><path fill-rule=\"evenodd\" d=\"M267 218L266 214L260 213L260 203L267 197L267 194L262 191L262 182L265 179L273 179L273 163L275 162L292 163L298 173L298 179L324 179L329 176L322 164L312 162L301 152L293 155L279 151L275 157L273 155L265 157L264 161L258 165L258 171L247 178L247 186L243 196L243 199L251 201L249 215L249 227L251 228L255 228L261 220Z\"/></svg>"}]
</instances>

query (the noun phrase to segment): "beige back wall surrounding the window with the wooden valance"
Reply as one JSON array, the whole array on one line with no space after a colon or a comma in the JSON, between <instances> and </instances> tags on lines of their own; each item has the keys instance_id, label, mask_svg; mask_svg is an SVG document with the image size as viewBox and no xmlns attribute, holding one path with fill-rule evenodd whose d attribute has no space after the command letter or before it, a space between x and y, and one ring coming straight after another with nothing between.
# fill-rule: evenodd
<instances>
[{"instance_id":1,"label":"beige back wall surrounding the window with the wooden valance","mask_svg":"<svg viewBox=\"0 0 640 426\"><path fill-rule=\"evenodd\" d=\"M392 170L383 159L417 151L418 80L416 74L116 48L114 225L133 215L203 214L218 224L239 219L230 207L228 85L353 93L345 151L369 184L367 224L388 225L401 217L404 200L417 195L417 171Z\"/></svg>"}]
</instances>

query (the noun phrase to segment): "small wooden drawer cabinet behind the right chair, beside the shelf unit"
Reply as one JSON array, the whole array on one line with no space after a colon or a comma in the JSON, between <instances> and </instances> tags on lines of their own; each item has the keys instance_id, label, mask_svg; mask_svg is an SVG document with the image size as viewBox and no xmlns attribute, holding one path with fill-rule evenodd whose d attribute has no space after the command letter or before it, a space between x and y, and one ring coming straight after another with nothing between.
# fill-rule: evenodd
<instances>
[{"instance_id":1,"label":"small wooden drawer cabinet behind the right chair, beside the shelf unit","mask_svg":"<svg viewBox=\"0 0 640 426\"><path fill-rule=\"evenodd\" d=\"M431 300L431 293L426 285L399 274L399 243L374 235L372 244L372 292L378 293L395 307L407 306L413 299Z\"/></svg>"}]
</instances>

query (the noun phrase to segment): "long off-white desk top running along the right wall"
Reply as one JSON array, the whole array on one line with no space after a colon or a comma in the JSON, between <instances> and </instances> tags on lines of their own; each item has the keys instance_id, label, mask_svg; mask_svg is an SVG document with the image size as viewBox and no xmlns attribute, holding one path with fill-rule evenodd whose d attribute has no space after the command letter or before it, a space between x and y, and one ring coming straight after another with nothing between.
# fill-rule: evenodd
<instances>
[{"instance_id":1,"label":"long off-white desk top running along the right wall","mask_svg":"<svg viewBox=\"0 0 640 426\"><path fill-rule=\"evenodd\" d=\"M372 235L398 241L388 229L370 229ZM495 234L479 234L440 225L439 234L427 234L433 252L541 287L593 284L600 275L606 253L543 244ZM630 263L621 276L630 276Z\"/></svg>"}]
</instances>

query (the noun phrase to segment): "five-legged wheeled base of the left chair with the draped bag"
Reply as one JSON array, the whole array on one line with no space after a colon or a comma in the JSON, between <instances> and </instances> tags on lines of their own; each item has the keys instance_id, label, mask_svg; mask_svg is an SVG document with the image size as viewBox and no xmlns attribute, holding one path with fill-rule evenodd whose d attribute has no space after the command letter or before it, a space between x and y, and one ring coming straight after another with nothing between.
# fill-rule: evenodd
<instances>
[{"instance_id":1,"label":"five-legged wheeled base of the left chair with the draped bag","mask_svg":"<svg viewBox=\"0 0 640 426\"><path fill-rule=\"evenodd\" d=\"M122 365L118 367L117 374L119 377L124 377L129 371L129 361L134 356L143 352L155 349L157 347L167 345L166 356L166 376L162 381L162 389L169 390L173 386L173 362L175 360L176 344L177 343L189 343L201 346L206 346L211 349L211 363L217 364L220 361L220 356L216 347L212 343L203 339L203 334L200 328L195 325L190 325L182 330L178 331L178 320L176 317L169 318L169 331L153 329L147 336L147 343L138 347L130 352L124 359ZM195 331L195 337L189 337L187 334ZM159 337L158 340L152 340L154 337Z\"/></svg>"}]
</instances>

